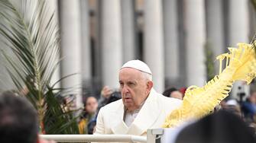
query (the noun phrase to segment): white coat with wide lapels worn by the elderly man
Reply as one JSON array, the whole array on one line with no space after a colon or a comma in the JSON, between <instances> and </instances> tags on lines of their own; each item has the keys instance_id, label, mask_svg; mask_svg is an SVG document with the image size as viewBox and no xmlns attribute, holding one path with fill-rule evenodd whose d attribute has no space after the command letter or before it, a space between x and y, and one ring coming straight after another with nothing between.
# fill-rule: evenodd
<instances>
[{"instance_id":1,"label":"white coat with wide lapels worn by the elderly man","mask_svg":"<svg viewBox=\"0 0 256 143\"><path fill-rule=\"evenodd\" d=\"M147 135L147 129L158 129L164 124L167 115L178 106L181 100L164 97L154 89L147 97L138 115L127 126L123 121L124 104L121 100L109 103L99 110L96 132L94 134Z\"/></svg>"}]
</instances>

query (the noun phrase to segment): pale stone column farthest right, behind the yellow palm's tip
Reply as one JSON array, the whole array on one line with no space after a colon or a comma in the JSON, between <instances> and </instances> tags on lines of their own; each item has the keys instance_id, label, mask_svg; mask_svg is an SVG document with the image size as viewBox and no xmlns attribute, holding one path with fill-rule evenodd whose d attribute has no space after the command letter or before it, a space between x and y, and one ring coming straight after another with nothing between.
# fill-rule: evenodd
<instances>
[{"instance_id":1,"label":"pale stone column farthest right, behind the yellow palm's tip","mask_svg":"<svg viewBox=\"0 0 256 143\"><path fill-rule=\"evenodd\" d=\"M228 1L228 46L237 46L237 43L249 43L249 8L248 0L232 0ZM243 89L238 90L238 87ZM232 96L238 98L238 92L245 92L248 96L249 87L243 82L235 82L232 87Z\"/></svg>"}]
</instances>

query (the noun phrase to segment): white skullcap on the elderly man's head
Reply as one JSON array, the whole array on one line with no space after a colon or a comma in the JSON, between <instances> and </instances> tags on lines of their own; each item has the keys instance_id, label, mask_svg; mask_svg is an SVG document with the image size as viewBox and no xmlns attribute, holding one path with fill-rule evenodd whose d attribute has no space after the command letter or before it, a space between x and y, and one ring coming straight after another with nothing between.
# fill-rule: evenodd
<instances>
[{"instance_id":1,"label":"white skullcap on the elderly man's head","mask_svg":"<svg viewBox=\"0 0 256 143\"><path fill-rule=\"evenodd\" d=\"M125 62L122 68L134 68L134 69L138 69L139 71L144 71L152 75L151 69L147 66L147 64L145 64L144 62L138 59Z\"/></svg>"}]
</instances>

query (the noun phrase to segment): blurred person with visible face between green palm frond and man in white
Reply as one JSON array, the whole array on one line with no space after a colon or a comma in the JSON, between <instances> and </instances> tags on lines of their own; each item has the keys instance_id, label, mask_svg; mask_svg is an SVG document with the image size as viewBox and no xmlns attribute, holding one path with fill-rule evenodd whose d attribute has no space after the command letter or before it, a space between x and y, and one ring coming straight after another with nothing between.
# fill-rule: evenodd
<instances>
[{"instance_id":1,"label":"blurred person with visible face between green palm frond and man in white","mask_svg":"<svg viewBox=\"0 0 256 143\"><path fill-rule=\"evenodd\" d=\"M79 133L87 134L88 122L95 116L98 109L98 101L96 97L87 97L84 103L84 113L79 121Z\"/></svg>"}]
</instances>

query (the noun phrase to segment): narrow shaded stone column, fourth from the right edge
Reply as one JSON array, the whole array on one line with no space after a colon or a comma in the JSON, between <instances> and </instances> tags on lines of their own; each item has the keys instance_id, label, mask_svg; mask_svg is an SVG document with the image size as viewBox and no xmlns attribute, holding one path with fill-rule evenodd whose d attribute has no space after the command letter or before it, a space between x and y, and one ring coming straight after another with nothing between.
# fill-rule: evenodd
<instances>
[{"instance_id":1,"label":"narrow shaded stone column, fourth from the right edge","mask_svg":"<svg viewBox=\"0 0 256 143\"><path fill-rule=\"evenodd\" d=\"M167 83L178 86L180 75L177 0L164 0L164 75Z\"/></svg>"}]
</instances>

